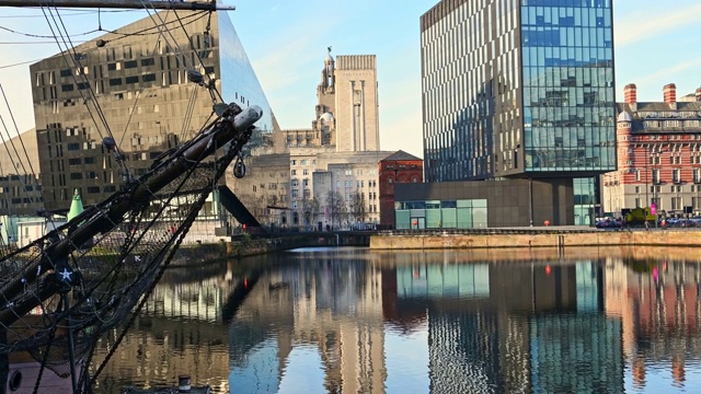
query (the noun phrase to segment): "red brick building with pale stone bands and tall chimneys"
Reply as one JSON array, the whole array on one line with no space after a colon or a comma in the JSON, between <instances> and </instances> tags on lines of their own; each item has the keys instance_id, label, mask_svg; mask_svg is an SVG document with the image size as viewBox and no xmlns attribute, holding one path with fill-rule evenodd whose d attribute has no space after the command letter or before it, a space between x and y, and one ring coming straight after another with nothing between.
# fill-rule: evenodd
<instances>
[{"instance_id":1,"label":"red brick building with pale stone bands and tall chimneys","mask_svg":"<svg viewBox=\"0 0 701 394\"><path fill-rule=\"evenodd\" d=\"M607 212L655 205L658 215L701 213L701 88L677 100L639 103L634 84L617 104L618 171L601 176Z\"/></svg>"}]
</instances>

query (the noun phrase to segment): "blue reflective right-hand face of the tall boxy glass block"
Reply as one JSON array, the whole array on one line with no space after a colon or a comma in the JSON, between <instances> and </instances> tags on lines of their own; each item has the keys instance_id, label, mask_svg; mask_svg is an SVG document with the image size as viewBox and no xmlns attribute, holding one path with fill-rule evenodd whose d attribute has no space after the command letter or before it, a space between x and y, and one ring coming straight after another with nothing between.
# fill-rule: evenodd
<instances>
[{"instance_id":1,"label":"blue reflective right-hand face of the tall boxy glass block","mask_svg":"<svg viewBox=\"0 0 701 394\"><path fill-rule=\"evenodd\" d=\"M616 170L610 0L521 7L527 172Z\"/></svg>"}]
</instances>

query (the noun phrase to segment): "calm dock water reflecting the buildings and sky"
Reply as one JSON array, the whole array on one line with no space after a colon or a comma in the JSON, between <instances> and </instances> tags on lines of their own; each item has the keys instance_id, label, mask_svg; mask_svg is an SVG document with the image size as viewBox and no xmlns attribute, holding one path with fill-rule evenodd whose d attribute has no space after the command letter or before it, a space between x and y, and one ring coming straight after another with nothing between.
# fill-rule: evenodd
<instances>
[{"instance_id":1,"label":"calm dock water reflecting the buildings and sky","mask_svg":"<svg viewBox=\"0 0 701 394\"><path fill-rule=\"evenodd\" d=\"M95 391L701 392L699 262L310 248L171 269Z\"/></svg>"}]
</instances>

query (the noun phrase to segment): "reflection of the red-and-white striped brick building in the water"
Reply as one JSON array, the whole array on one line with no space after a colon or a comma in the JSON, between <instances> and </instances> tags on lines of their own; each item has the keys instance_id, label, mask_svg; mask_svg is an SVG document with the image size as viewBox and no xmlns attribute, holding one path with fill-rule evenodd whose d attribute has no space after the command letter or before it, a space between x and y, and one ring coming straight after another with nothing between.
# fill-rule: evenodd
<instances>
[{"instance_id":1,"label":"reflection of the red-and-white striped brick building in the water","mask_svg":"<svg viewBox=\"0 0 701 394\"><path fill-rule=\"evenodd\" d=\"M609 259L607 313L620 315L623 351L635 387L646 369L668 369L673 384L686 380L686 360L701 359L701 267L697 263Z\"/></svg>"}]
</instances>

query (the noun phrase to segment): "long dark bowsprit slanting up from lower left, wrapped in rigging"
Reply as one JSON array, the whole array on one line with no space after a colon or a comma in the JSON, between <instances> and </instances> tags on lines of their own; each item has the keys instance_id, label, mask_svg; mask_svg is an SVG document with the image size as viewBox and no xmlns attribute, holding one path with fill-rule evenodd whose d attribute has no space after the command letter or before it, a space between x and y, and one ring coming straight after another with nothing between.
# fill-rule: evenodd
<instances>
[{"instance_id":1,"label":"long dark bowsprit slanting up from lower left, wrapped in rigging","mask_svg":"<svg viewBox=\"0 0 701 394\"><path fill-rule=\"evenodd\" d=\"M48 269L53 269L53 262L65 259L76 250L76 245L82 245L93 236L105 233L118 223L124 221L124 216L135 207L143 207L150 204L154 198L153 195L173 182L180 175L191 169L193 163L199 162L202 159L215 153L217 148L226 146L233 141L242 132L248 130L255 121L263 116L263 111L257 105L252 105L242 113L234 116L233 119L225 118L219 125L203 135L198 141L195 141L184 152L171 158L164 163L163 170L152 177L145 179L143 183L136 185L134 190L124 196L123 199L116 200L103 210L95 212L93 217L77 228L69 236L48 246L45 250L45 257L37 263L31 264L24 269L22 278L8 283L0 293L5 300L11 300L19 294L27 283L34 282L41 275ZM43 286L38 290L35 298L30 297L20 302L15 302L12 308L4 308L0 311L0 324L9 327L25 313L56 293L51 286Z\"/></svg>"}]
</instances>

